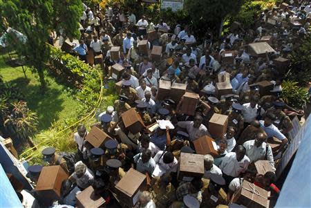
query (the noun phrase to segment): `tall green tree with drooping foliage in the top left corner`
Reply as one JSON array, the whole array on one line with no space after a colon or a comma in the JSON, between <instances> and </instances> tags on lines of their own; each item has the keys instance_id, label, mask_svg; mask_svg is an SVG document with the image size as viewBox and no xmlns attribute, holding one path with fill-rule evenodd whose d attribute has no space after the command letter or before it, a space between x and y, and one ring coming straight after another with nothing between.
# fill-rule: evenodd
<instances>
[{"instance_id":1,"label":"tall green tree with drooping foliage in the top left corner","mask_svg":"<svg viewBox=\"0 0 311 208\"><path fill-rule=\"evenodd\" d=\"M79 37L79 18L82 16L81 0L0 0L1 28L13 28L26 36L19 41L14 34L8 35L8 43L14 46L26 64L37 71L44 92L44 64L50 55L46 44L50 31L62 28L66 37Z\"/></svg>"}]
</instances>

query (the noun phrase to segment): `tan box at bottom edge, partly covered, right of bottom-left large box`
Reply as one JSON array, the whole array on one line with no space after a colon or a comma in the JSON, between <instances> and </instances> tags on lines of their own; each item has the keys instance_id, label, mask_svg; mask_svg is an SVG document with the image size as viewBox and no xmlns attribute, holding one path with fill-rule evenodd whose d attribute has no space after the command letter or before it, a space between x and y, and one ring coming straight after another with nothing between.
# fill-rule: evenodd
<instances>
[{"instance_id":1,"label":"tan box at bottom edge, partly covered, right of bottom-left large box","mask_svg":"<svg viewBox=\"0 0 311 208\"><path fill-rule=\"evenodd\" d=\"M78 193L76 198L77 208L98 208L106 202L101 196L95 195L92 186L89 186L82 192Z\"/></svg>"}]
</instances>

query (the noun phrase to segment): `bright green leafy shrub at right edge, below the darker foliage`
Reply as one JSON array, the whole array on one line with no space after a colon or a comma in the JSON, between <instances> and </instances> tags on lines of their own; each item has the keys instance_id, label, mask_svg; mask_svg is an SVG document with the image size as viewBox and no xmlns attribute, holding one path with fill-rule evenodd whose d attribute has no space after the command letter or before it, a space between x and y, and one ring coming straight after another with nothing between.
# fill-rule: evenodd
<instances>
[{"instance_id":1,"label":"bright green leafy shrub at right edge, below the darker foliage","mask_svg":"<svg viewBox=\"0 0 311 208\"><path fill-rule=\"evenodd\" d=\"M308 102L310 96L306 88L298 86L298 82L294 81L283 81L282 84L282 95L284 102L293 106L294 108L302 109L303 106Z\"/></svg>"}]
</instances>

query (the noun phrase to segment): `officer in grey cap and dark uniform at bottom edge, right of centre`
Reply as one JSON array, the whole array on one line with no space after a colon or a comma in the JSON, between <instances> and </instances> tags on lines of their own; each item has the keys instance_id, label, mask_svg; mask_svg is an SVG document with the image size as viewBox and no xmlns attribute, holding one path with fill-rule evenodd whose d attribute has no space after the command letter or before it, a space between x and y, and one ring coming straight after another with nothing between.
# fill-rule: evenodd
<instances>
[{"instance_id":1,"label":"officer in grey cap and dark uniform at bottom edge, right of centre","mask_svg":"<svg viewBox=\"0 0 311 208\"><path fill-rule=\"evenodd\" d=\"M225 185L225 179L215 173L211 173L209 186L202 193L202 203L200 207L217 207L225 205L226 193L221 189Z\"/></svg>"}]
</instances>

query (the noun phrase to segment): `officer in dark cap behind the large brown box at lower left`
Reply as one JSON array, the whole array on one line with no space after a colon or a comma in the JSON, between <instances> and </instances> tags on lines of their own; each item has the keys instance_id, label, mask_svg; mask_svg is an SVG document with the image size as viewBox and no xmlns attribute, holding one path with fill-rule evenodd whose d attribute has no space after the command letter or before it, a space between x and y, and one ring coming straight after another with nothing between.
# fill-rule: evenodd
<instances>
[{"instance_id":1,"label":"officer in dark cap behind the large brown box at lower left","mask_svg":"<svg viewBox=\"0 0 311 208\"><path fill-rule=\"evenodd\" d=\"M48 162L48 165L60 165L66 173L69 173L66 160L62 158L59 154L55 153L55 149L53 147L48 147L44 149L42 152L43 160Z\"/></svg>"}]
</instances>

